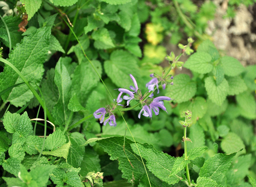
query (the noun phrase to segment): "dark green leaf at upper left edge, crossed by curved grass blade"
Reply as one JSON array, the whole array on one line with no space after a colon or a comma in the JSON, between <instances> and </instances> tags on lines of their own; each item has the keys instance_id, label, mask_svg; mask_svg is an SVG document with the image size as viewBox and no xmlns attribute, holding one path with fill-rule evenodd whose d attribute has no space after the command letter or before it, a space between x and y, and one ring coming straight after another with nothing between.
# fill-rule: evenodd
<instances>
[{"instance_id":1,"label":"dark green leaf at upper left edge, crossed by curved grass blade","mask_svg":"<svg viewBox=\"0 0 256 187\"><path fill-rule=\"evenodd\" d=\"M5 16L3 19L9 29L10 37L12 41L12 48L13 48L22 39L21 32L18 32L18 29L19 29L18 25L20 24L21 19L16 16L14 17ZM0 21L0 38L3 39L4 45L9 47L10 44L9 44L7 31L6 31L4 22L2 20Z\"/></svg>"}]
</instances>

